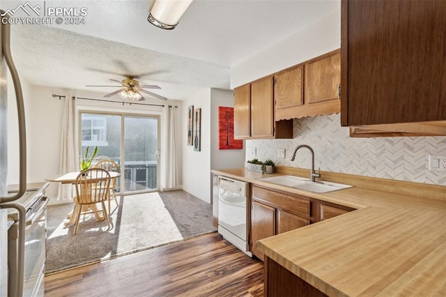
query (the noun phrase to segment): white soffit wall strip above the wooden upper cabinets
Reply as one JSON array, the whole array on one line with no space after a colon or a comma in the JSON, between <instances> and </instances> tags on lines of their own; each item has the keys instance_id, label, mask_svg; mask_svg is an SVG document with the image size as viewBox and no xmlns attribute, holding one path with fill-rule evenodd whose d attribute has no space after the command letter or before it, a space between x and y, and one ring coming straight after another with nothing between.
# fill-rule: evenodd
<instances>
[{"instance_id":1,"label":"white soffit wall strip above the wooden upper cabinets","mask_svg":"<svg viewBox=\"0 0 446 297\"><path fill-rule=\"evenodd\" d=\"M341 47L341 6L231 67L231 89Z\"/></svg>"}]
</instances>

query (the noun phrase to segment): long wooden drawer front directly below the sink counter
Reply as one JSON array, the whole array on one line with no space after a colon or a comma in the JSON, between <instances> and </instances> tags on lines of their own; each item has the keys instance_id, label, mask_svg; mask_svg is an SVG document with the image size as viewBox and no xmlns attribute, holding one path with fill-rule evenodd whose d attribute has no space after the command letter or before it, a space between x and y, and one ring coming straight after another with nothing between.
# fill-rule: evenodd
<instances>
[{"instance_id":1,"label":"long wooden drawer front directly below the sink counter","mask_svg":"<svg viewBox=\"0 0 446 297\"><path fill-rule=\"evenodd\" d=\"M286 209L291 213L298 213L305 218L309 218L309 199L285 195L257 187L252 187L252 197L254 199L279 206L280 208Z\"/></svg>"}]
</instances>

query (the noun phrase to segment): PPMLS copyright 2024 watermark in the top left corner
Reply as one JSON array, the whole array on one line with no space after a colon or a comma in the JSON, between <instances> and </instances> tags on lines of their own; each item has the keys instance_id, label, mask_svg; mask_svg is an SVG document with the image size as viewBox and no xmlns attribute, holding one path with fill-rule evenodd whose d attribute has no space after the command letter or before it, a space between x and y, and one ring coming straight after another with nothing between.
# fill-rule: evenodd
<instances>
[{"instance_id":1,"label":"PPMLS copyright 2024 watermark in the top left corner","mask_svg":"<svg viewBox=\"0 0 446 297\"><path fill-rule=\"evenodd\" d=\"M36 3L36 1L33 1ZM8 15L8 17L4 17ZM29 1L1 14L3 24L85 24L86 7L47 7L46 1Z\"/></svg>"}]
</instances>

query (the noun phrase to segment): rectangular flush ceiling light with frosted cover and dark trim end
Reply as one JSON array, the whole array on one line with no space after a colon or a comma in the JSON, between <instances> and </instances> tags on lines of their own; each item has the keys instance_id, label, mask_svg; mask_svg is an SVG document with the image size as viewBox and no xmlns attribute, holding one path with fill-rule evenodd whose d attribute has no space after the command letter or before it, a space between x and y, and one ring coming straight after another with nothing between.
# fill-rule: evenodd
<instances>
[{"instance_id":1,"label":"rectangular flush ceiling light with frosted cover and dark trim end","mask_svg":"<svg viewBox=\"0 0 446 297\"><path fill-rule=\"evenodd\" d=\"M192 0L155 0L147 20L159 28L174 29L190 3Z\"/></svg>"}]
</instances>

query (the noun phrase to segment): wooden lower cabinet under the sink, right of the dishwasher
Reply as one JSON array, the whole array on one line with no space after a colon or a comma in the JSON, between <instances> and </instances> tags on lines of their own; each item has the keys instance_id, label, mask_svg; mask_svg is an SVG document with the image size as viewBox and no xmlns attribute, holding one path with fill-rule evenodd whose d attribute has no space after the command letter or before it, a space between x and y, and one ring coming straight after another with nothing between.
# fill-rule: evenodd
<instances>
[{"instance_id":1,"label":"wooden lower cabinet under the sink, right of the dishwasher","mask_svg":"<svg viewBox=\"0 0 446 297\"><path fill-rule=\"evenodd\" d=\"M249 248L263 260L256 242L276 234L307 226L310 201L305 197L293 197L282 192L252 187L251 224Z\"/></svg>"}]
</instances>

